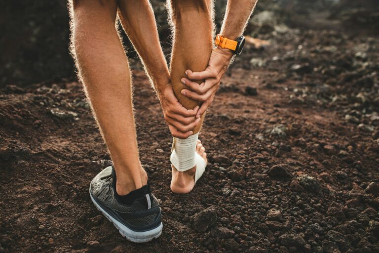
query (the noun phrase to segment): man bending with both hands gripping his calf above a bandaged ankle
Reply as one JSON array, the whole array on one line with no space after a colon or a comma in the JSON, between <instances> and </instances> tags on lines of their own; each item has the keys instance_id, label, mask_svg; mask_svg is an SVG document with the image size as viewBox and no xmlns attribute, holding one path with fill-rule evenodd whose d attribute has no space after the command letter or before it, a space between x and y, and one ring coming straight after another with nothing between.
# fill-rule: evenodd
<instances>
[{"instance_id":1,"label":"man bending with both hands gripping his calf above a bandaged ankle","mask_svg":"<svg viewBox=\"0 0 379 253\"><path fill-rule=\"evenodd\" d=\"M251 11L242 11L234 6L238 5L235 1L229 2L233 4L228 4L226 18L235 18L242 12L246 17L242 23L237 22L239 30L232 29L233 33L242 33ZM104 169L92 180L90 197L128 240L151 241L162 231L160 207L139 159L130 70L115 28L117 11L144 63L174 137L173 192L191 191L205 169L206 154L197 136L232 53L224 48L212 49L211 0L168 2L175 30L170 72L148 0L72 0L69 3L72 53L114 162L114 167ZM249 3L252 10L255 0Z\"/></svg>"}]
</instances>

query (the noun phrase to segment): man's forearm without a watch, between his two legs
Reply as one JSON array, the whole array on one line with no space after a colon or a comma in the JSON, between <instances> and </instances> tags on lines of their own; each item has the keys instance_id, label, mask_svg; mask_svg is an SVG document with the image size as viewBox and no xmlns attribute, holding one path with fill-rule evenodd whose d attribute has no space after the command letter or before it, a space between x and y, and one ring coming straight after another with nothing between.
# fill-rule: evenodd
<instances>
[{"instance_id":1,"label":"man's forearm without a watch, between his two legs","mask_svg":"<svg viewBox=\"0 0 379 253\"><path fill-rule=\"evenodd\" d=\"M138 11L137 11L138 10ZM148 0L119 2L122 26L152 80L158 94L170 83L170 73L160 46L154 12Z\"/></svg>"}]
</instances>

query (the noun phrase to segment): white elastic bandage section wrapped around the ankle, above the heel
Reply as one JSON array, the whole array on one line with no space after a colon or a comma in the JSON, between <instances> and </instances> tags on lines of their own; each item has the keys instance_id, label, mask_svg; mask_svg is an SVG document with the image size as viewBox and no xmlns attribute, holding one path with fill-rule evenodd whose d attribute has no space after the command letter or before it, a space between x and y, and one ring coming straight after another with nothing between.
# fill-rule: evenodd
<instances>
[{"instance_id":1,"label":"white elastic bandage section wrapped around the ankle, above the heel","mask_svg":"<svg viewBox=\"0 0 379 253\"><path fill-rule=\"evenodd\" d=\"M175 169L186 171L195 167L195 152L198 135L199 133L192 134L187 139L174 137L170 161Z\"/></svg>"}]
</instances>

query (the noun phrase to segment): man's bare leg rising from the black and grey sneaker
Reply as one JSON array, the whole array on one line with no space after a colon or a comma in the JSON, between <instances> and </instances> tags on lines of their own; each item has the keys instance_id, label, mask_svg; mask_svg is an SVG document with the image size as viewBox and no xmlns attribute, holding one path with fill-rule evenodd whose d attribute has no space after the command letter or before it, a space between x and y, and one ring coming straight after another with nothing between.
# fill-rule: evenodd
<instances>
[{"instance_id":1,"label":"man's bare leg rising from the black and grey sneaker","mask_svg":"<svg viewBox=\"0 0 379 253\"><path fill-rule=\"evenodd\" d=\"M134 124L128 60L115 29L116 0L74 0L73 53L114 162L119 195L147 184Z\"/></svg>"}]
</instances>

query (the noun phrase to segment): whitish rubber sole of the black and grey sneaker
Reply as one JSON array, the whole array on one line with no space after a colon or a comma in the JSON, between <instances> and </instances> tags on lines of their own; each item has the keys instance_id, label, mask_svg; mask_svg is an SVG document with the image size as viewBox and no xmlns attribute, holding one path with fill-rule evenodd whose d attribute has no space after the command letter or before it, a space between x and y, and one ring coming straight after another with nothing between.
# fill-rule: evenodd
<instances>
[{"instance_id":1,"label":"whitish rubber sole of the black and grey sneaker","mask_svg":"<svg viewBox=\"0 0 379 253\"><path fill-rule=\"evenodd\" d=\"M89 193L89 196L91 196L91 200L93 204L95 204L95 207L97 210L101 211L101 213L104 214L104 216L107 217L109 221L111 221L114 226L118 229L120 234L125 237L127 240L134 242L134 243L147 243L152 241L154 238L158 238L162 234L162 222L160 222L159 226L149 230L149 231L144 231L144 232L137 232L133 231L118 220L114 219L111 215L109 215L97 202L94 200L92 197L91 193Z\"/></svg>"}]
</instances>

